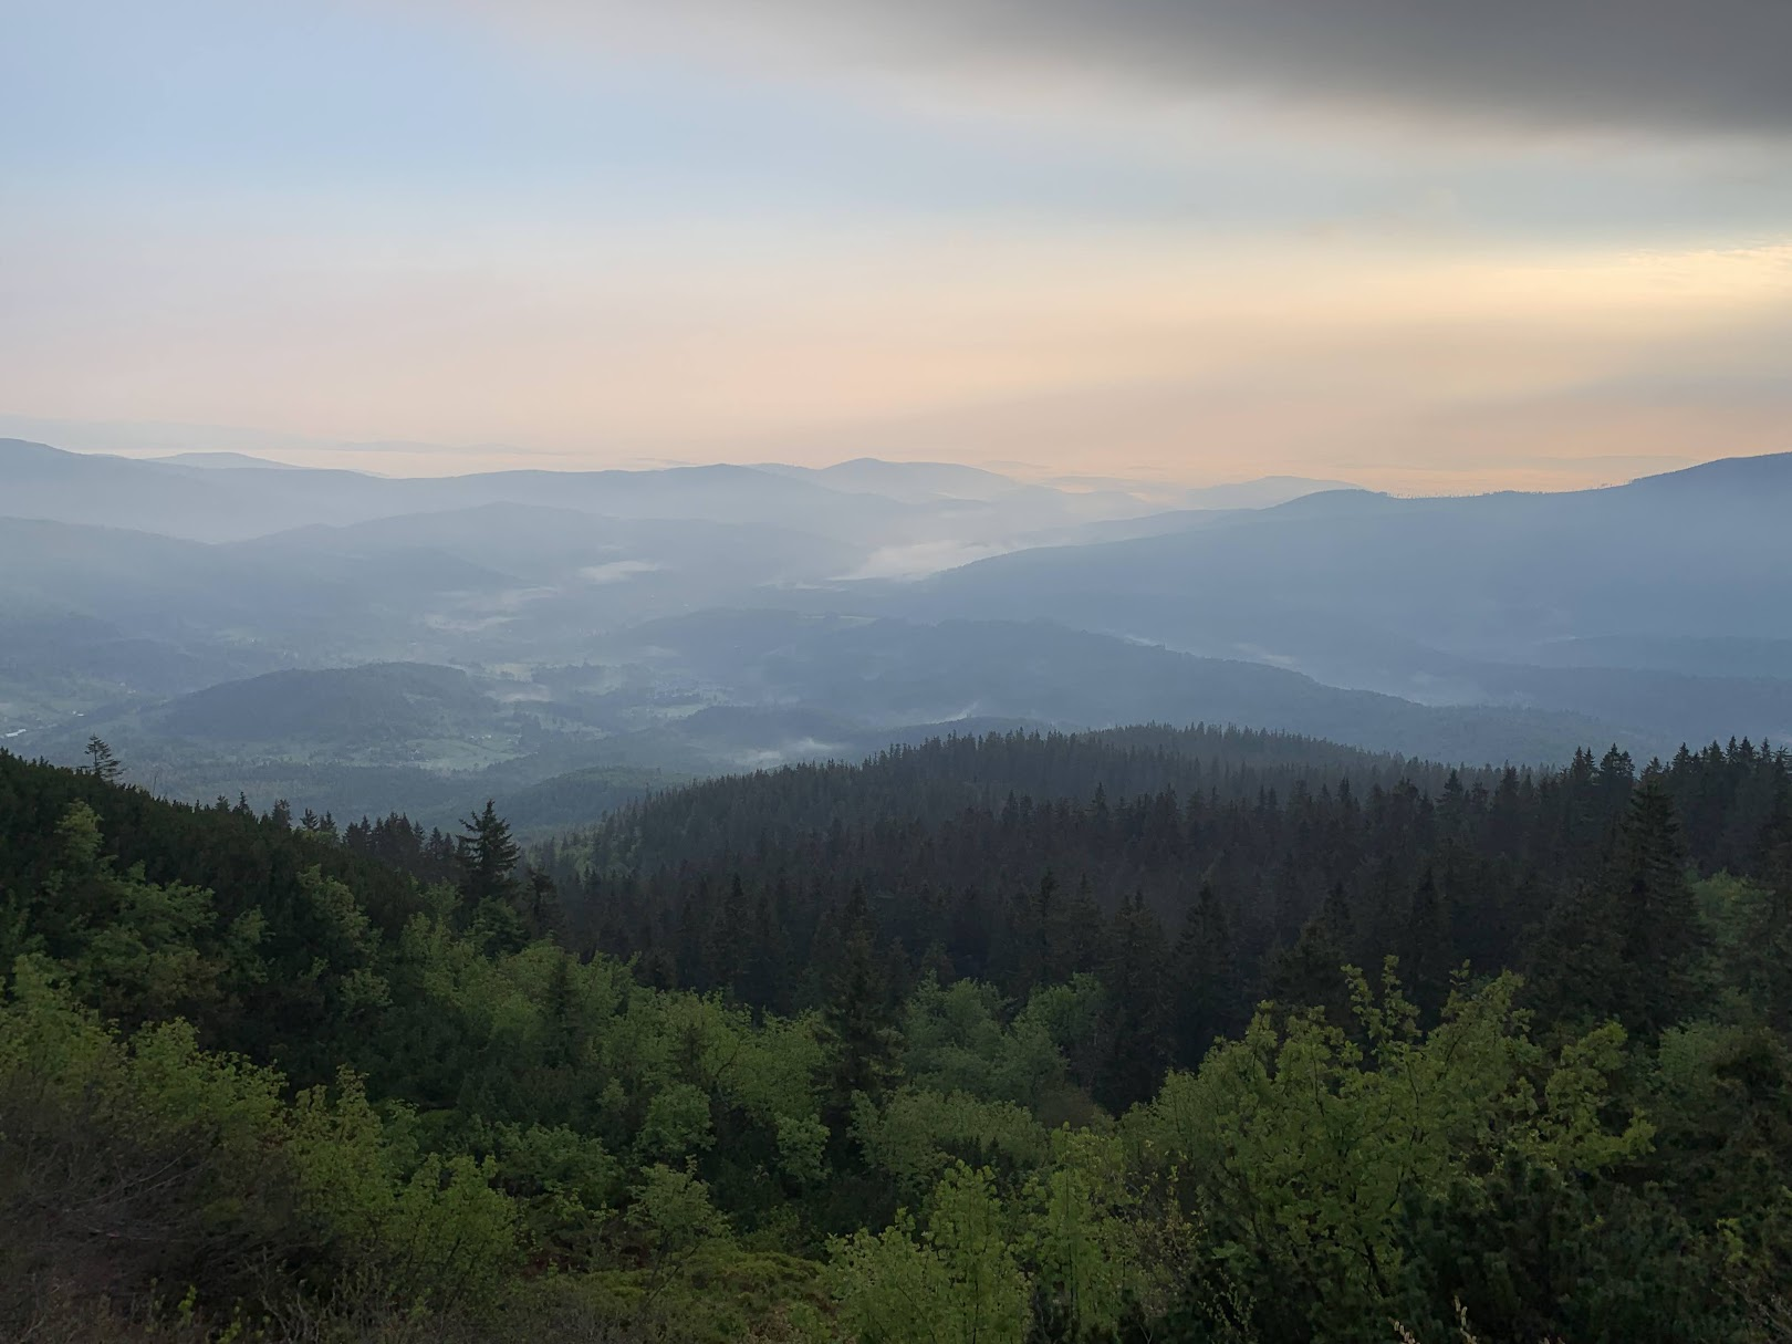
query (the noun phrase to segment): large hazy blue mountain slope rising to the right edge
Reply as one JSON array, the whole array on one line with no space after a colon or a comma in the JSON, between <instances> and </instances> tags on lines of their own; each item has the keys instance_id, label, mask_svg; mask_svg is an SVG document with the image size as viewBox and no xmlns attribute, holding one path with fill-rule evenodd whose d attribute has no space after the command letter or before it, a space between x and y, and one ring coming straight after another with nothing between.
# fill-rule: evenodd
<instances>
[{"instance_id":1,"label":"large hazy blue mountain slope rising to the right edge","mask_svg":"<svg viewBox=\"0 0 1792 1344\"><path fill-rule=\"evenodd\" d=\"M1401 645L1521 661L1564 638L1762 633L1788 600L1788 504L1792 455L1568 495L1337 491L1215 527L998 556L867 604L1052 616L1380 685L1378 658L1410 670Z\"/></svg>"}]
</instances>

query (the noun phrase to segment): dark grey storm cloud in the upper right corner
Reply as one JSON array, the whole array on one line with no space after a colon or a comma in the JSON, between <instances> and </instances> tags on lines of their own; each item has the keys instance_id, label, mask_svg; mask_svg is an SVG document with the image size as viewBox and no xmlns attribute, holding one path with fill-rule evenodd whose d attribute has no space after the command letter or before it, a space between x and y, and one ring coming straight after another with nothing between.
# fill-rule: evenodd
<instances>
[{"instance_id":1,"label":"dark grey storm cloud in the upper right corner","mask_svg":"<svg viewBox=\"0 0 1792 1344\"><path fill-rule=\"evenodd\" d=\"M806 9L799 0L797 9ZM808 11L826 23L840 0ZM1792 133L1792 0L903 0L910 56L1527 127Z\"/></svg>"}]
</instances>

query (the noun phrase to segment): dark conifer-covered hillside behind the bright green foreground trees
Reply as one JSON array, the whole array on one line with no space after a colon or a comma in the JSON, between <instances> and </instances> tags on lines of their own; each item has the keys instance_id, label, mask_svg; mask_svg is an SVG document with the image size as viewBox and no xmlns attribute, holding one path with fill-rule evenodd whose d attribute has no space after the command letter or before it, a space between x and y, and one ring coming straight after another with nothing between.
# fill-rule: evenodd
<instances>
[{"instance_id":1,"label":"dark conifer-covered hillside behind the bright green foreground trees","mask_svg":"<svg viewBox=\"0 0 1792 1344\"><path fill-rule=\"evenodd\" d=\"M1767 876L1785 808L1783 754L1749 742L1641 772L1611 749L1464 774L1238 729L1014 733L694 785L545 858L591 944L765 1007L821 1002L857 928L900 987L932 973L1025 998L1124 977L1142 1016L1102 1054L1129 1084L1091 1082L1127 1106L1262 996L1348 1023L1339 966L1387 953L1426 1009L1466 962L1530 971L1550 1016L1615 1011L1631 977L1595 984L1575 961L1595 944L1564 946L1607 918L1620 932L1590 892L1661 880L1638 855ZM1679 923L1625 935L1690 977L1692 898L1676 887L1663 910Z\"/></svg>"}]
</instances>

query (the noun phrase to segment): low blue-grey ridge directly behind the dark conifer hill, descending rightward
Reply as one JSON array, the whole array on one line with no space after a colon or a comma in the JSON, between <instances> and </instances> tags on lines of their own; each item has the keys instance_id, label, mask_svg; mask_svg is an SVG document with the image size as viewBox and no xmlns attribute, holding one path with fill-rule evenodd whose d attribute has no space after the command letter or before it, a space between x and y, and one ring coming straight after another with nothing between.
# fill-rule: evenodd
<instances>
[{"instance_id":1,"label":"low blue-grey ridge directly behind the dark conifer hill, descending rightward","mask_svg":"<svg viewBox=\"0 0 1792 1344\"><path fill-rule=\"evenodd\" d=\"M737 704L803 706L887 726L966 717L1064 728L1244 724L1475 763L1566 760L1577 745L1609 742L1616 731L1588 715L1425 706L1337 690L1287 668L1195 658L1050 622L934 625L710 611L624 631L595 649ZM1631 740L1645 753L1677 745Z\"/></svg>"}]
</instances>

